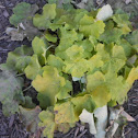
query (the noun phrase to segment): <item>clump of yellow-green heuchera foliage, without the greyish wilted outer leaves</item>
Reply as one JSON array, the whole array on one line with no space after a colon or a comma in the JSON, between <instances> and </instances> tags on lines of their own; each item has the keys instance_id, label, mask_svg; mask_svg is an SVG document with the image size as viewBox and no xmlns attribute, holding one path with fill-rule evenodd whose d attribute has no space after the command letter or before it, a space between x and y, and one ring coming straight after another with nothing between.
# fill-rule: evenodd
<instances>
[{"instance_id":1,"label":"clump of yellow-green heuchera foliage, without the greyish wilted outer leaves","mask_svg":"<svg viewBox=\"0 0 138 138\"><path fill-rule=\"evenodd\" d=\"M138 31L131 31L129 16L115 13L103 22L96 14L46 4L42 14L24 16L42 32L32 41L33 51L21 47L8 55L4 66L25 73L38 92L44 110L39 126L48 138L55 129L67 131L73 126L83 108L93 113L123 104L138 79ZM11 23L18 25L20 15L13 16ZM76 80L81 84L78 94L72 91Z\"/></svg>"}]
</instances>

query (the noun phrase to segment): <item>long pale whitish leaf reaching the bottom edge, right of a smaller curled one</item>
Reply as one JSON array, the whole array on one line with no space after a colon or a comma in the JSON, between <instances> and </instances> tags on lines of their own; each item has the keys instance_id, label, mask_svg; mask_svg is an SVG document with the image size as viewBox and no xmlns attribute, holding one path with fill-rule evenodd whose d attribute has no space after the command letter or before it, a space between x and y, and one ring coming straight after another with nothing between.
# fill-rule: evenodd
<instances>
[{"instance_id":1,"label":"long pale whitish leaf reaching the bottom edge, right of a smaller curled one","mask_svg":"<svg viewBox=\"0 0 138 138\"><path fill-rule=\"evenodd\" d=\"M105 128L107 125L107 106L99 107L94 111L94 116L96 120L96 130L95 138L105 138Z\"/></svg>"}]
</instances>

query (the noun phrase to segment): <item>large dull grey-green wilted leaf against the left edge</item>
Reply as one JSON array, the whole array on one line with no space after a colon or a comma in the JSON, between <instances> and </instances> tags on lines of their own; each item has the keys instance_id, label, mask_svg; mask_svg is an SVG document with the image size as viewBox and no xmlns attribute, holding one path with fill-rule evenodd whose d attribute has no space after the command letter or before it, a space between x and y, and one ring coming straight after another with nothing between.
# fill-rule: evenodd
<instances>
[{"instance_id":1,"label":"large dull grey-green wilted leaf against the left edge","mask_svg":"<svg viewBox=\"0 0 138 138\"><path fill-rule=\"evenodd\" d=\"M19 105L24 104L22 87L22 78L15 77L8 70L0 71L0 102L5 116L15 114L19 112Z\"/></svg>"}]
</instances>

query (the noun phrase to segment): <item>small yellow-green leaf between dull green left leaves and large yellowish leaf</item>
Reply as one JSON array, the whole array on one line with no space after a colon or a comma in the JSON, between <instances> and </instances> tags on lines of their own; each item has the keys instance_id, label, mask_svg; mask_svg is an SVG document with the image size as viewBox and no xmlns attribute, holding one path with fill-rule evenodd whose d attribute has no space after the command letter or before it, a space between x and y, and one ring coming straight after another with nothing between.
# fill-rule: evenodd
<instances>
[{"instance_id":1,"label":"small yellow-green leaf between dull green left leaves and large yellowish leaf","mask_svg":"<svg viewBox=\"0 0 138 138\"><path fill-rule=\"evenodd\" d=\"M24 70L26 78L33 80L39 73L42 73L42 66L39 65L37 55L31 57L30 65Z\"/></svg>"}]
</instances>

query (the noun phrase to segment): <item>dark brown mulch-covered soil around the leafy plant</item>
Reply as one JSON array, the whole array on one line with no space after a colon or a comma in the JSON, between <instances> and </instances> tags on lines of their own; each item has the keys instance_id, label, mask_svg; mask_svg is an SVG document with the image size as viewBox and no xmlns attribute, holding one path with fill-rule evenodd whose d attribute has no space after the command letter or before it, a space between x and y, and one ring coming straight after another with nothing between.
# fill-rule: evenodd
<instances>
[{"instance_id":1,"label":"dark brown mulch-covered soil around the leafy plant","mask_svg":"<svg viewBox=\"0 0 138 138\"><path fill-rule=\"evenodd\" d=\"M12 9L15 4L22 1L36 3L39 8L46 3L45 0L0 0L0 64L7 60L8 53L14 48L21 45L31 46L31 43L27 39L24 39L23 42L11 42L10 37L4 33L5 28L11 26L9 18L12 14ZM30 82L27 84L30 84ZM74 88L74 90L78 89ZM35 99L37 93L35 90L31 91L32 93L35 93L33 100L38 104ZM125 127L125 138L138 138L138 81L135 81L134 87L128 92L127 102L124 103L123 106L125 111L137 120L135 123L129 122ZM0 104L0 138L31 137L31 134L25 130L23 123L20 120L19 115L15 114L10 117L5 117L2 114L2 105ZM94 138L94 136L90 134L88 125L83 127L80 123L77 123L76 127L65 135L61 133L55 133L55 138Z\"/></svg>"}]
</instances>

